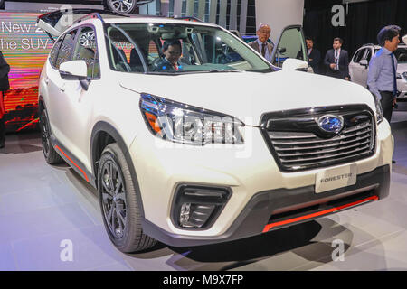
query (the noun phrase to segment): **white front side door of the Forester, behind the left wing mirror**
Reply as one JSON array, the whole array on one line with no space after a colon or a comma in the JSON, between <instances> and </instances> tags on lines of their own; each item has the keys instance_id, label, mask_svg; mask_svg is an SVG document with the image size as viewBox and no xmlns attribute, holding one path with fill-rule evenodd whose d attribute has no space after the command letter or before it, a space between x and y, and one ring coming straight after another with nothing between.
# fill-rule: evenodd
<instances>
[{"instance_id":1,"label":"white front side door of the Forester, behind the left wing mirror","mask_svg":"<svg viewBox=\"0 0 407 289\"><path fill-rule=\"evenodd\" d=\"M65 79L62 98L64 107L59 107L61 118L62 145L68 148L81 163L90 163L88 151L90 135L90 117L93 103L100 91L99 50L95 28L90 25L80 27L75 39L72 61L85 61L88 68L87 89L78 79ZM99 93L95 91L98 90ZM90 168L87 168L90 170ZM91 171L91 170L90 170Z\"/></svg>"}]
</instances>

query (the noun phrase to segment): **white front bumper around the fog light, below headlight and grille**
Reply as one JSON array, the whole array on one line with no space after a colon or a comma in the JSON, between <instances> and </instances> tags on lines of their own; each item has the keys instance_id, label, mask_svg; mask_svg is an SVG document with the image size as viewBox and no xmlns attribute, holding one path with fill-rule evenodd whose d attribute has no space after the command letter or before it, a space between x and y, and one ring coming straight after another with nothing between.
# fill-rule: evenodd
<instances>
[{"instance_id":1,"label":"white front bumper around the fog light, below headlight and grille","mask_svg":"<svg viewBox=\"0 0 407 289\"><path fill-rule=\"evenodd\" d=\"M297 210L291 207L307 207L312 205L309 201L319 201L319 198L361 189L356 192L374 190L374 195L382 199L388 194L388 186L378 180L383 179L381 174L390 174L393 137L386 120L376 131L375 154L355 162L358 173L355 188L316 194L316 174L325 169L280 172L258 127L247 126L245 144L230 147L173 144L156 138L146 129L129 148L144 208L143 229L147 235L172 246L211 244L258 235L270 224L273 211L280 214L284 210ZM366 178L368 181L364 181ZM176 188L181 184L231 189L231 198L210 228L183 229L173 223L172 204ZM264 193L273 197L260 197ZM258 198L270 199L274 204L260 205ZM251 207L253 201L255 206ZM326 202L329 201L334 200ZM323 206L323 203L318 205ZM258 210L259 206L265 208ZM256 210L251 211L252 208ZM253 217L257 214L258 217Z\"/></svg>"}]
</instances>

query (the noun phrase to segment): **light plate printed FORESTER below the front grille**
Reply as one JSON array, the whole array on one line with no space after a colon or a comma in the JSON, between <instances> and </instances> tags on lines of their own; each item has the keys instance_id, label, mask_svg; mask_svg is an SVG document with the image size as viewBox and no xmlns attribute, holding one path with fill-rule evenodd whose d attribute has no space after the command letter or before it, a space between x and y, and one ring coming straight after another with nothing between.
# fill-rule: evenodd
<instances>
[{"instance_id":1,"label":"light plate printed FORESTER below the front grille","mask_svg":"<svg viewBox=\"0 0 407 289\"><path fill-rule=\"evenodd\" d=\"M356 183L357 165L347 164L335 169L317 172L315 177L315 192L331 191Z\"/></svg>"}]
</instances>

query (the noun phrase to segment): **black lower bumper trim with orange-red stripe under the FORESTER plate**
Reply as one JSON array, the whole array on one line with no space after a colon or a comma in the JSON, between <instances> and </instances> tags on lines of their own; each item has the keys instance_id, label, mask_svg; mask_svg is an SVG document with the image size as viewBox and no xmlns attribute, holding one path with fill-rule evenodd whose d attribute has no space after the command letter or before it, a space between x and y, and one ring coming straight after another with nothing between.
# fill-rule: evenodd
<instances>
[{"instance_id":1,"label":"black lower bumper trim with orange-red stripe under the FORESTER plate","mask_svg":"<svg viewBox=\"0 0 407 289\"><path fill-rule=\"evenodd\" d=\"M369 200L382 200L389 195L390 170L389 165L379 167L373 172L358 175L358 181L353 186L326 191L323 194L316 194L314 186L260 191L249 200L232 226L222 235L215 237L170 233L147 219L142 221L143 230L148 236L174 247L200 246L248 238L337 211L332 209L349 209Z\"/></svg>"}]
</instances>

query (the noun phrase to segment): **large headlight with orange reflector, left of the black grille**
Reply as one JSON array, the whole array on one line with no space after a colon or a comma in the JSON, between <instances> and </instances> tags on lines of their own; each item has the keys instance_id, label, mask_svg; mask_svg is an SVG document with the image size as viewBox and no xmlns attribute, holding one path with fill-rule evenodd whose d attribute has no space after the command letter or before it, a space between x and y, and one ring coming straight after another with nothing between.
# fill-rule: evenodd
<instances>
[{"instance_id":1,"label":"large headlight with orange reflector, left of the black grille","mask_svg":"<svg viewBox=\"0 0 407 289\"><path fill-rule=\"evenodd\" d=\"M237 118L166 98L141 94L140 109L153 135L181 144L243 144Z\"/></svg>"}]
</instances>

